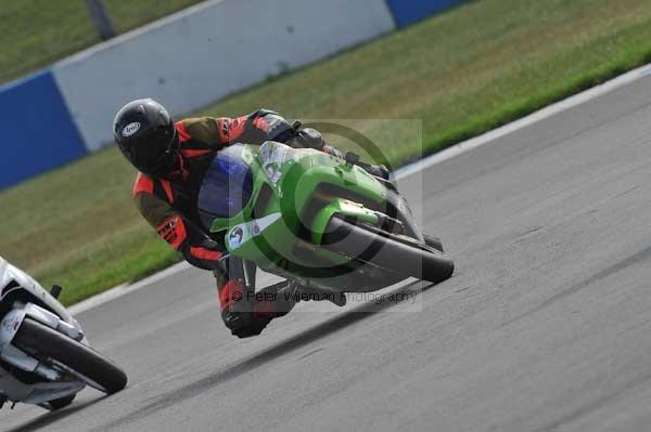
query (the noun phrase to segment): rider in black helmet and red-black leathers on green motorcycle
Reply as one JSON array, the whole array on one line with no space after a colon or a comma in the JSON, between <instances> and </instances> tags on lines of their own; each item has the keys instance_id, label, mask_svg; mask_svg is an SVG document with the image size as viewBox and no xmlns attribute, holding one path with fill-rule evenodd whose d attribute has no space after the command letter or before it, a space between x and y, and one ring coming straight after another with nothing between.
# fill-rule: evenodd
<instances>
[{"instance_id":1,"label":"rider in black helmet and red-black leathers on green motorcycle","mask_svg":"<svg viewBox=\"0 0 651 432\"><path fill-rule=\"evenodd\" d=\"M199 219L196 199L213 158L232 143L259 145L266 141L311 147L342 157L309 128L295 130L279 114L259 109L237 118L187 118L174 122L167 110L151 99L123 106L113 122L115 141L139 173L133 198L144 219L192 265L213 271L221 317L234 336L259 335L269 322L285 315L293 297L252 296L255 264L227 256L222 239L212 238ZM388 178L384 166L359 163L373 175ZM271 293L288 286L263 289ZM343 304L340 300L329 299Z\"/></svg>"}]
</instances>

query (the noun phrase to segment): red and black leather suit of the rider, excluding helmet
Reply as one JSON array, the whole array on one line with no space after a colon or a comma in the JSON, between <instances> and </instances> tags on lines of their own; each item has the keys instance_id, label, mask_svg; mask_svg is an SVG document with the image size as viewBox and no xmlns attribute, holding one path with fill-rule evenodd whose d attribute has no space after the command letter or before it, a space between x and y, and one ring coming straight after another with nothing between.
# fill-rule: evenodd
<instances>
[{"instance_id":1,"label":"red and black leather suit of the rider, excluding helmet","mask_svg":"<svg viewBox=\"0 0 651 432\"><path fill-rule=\"evenodd\" d=\"M199 191L216 153L232 143L263 144L265 141L288 142L341 154L320 139L296 136L295 131L278 114L260 109L238 118L189 118L176 123L180 141L180 170L152 179L139 173L133 185L138 209L146 221L174 249L192 265L210 270L217 279L221 317L239 337L259 335L275 317L284 315L293 303L282 300L256 300L255 265L229 257L222 260L222 239L210 238L202 227L196 209ZM250 300L251 299L251 300Z\"/></svg>"}]
</instances>

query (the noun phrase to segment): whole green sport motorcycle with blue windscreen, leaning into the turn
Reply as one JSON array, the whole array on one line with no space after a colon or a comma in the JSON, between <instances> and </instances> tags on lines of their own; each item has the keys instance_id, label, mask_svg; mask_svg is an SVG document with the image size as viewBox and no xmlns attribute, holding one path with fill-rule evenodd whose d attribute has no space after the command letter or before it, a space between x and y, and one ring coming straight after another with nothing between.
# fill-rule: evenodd
<instances>
[{"instance_id":1,"label":"whole green sport motorcycle with blue windscreen, leaning into the turn","mask_svg":"<svg viewBox=\"0 0 651 432\"><path fill-rule=\"evenodd\" d=\"M423 236L392 183L355 161L277 142L232 145L204 176L200 219L229 253L304 287L359 292L449 278L441 241Z\"/></svg>"}]
</instances>

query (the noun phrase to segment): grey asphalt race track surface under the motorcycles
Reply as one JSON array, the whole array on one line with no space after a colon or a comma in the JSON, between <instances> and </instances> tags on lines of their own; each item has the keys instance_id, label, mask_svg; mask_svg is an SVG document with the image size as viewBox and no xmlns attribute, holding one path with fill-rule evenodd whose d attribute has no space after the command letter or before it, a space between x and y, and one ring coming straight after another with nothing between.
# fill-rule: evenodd
<instances>
[{"instance_id":1,"label":"grey asphalt race track surface under the motorcycles","mask_svg":"<svg viewBox=\"0 0 651 432\"><path fill-rule=\"evenodd\" d=\"M650 184L643 78L404 181L457 263L392 288L414 305L299 304L241 341L187 270L78 316L124 392L0 429L651 430Z\"/></svg>"}]
</instances>

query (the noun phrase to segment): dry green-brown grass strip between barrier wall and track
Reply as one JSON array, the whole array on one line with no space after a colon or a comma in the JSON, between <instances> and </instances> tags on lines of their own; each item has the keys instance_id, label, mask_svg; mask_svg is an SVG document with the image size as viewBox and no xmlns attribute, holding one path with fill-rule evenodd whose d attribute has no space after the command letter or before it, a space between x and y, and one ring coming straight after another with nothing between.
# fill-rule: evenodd
<instances>
[{"instance_id":1,"label":"dry green-brown grass strip between barrier wall and track","mask_svg":"<svg viewBox=\"0 0 651 432\"><path fill-rule=\"evenodd\" d=\"M480 0L206 107L352 118L393 163L432 153L651 61L651 0ZM371 121L363 119L394 119ZM422 119L422 140L412 121ZM2 253L71 303L178 256L131 202L108 148L0 193Z\"/></svg>"}]
</instances>

